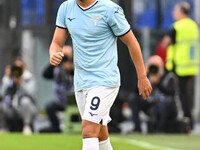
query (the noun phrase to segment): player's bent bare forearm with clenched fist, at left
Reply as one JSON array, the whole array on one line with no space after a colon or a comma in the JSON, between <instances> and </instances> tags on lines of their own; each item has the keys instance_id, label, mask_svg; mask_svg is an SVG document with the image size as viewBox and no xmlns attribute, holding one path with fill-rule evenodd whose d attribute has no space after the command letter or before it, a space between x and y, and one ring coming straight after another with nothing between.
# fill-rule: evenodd
<instances>
[{"instance_id":1,"label":"player's bent bare forearm with clenched fist, at left","mask_svg":"<svg viewBox=\"0 0 200 150\"><path fill-rule=\"evenodd\" d=\"M61 62L62 57L64 57L62 53L62 47L65 43L67 35L68 35L68 31L66 29L56 27L53 40L49 49L51 65L54 65L54 66L58 65Z\"/></svg>"}]
</instances>

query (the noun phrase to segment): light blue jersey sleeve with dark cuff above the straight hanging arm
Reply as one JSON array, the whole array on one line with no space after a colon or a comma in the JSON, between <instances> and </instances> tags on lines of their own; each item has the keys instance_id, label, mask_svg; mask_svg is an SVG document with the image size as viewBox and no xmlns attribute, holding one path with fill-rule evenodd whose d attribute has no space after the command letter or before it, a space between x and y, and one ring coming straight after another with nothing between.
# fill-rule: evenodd
<instances>
[{"instance_id":1,"label":"light blue jersey sleeve with dark cuff above the straight hanging arm","mask_svg":"<svg viewBox=\"0 0 200 150\"><path fill-rule=\"evenodd\" d=\"M130 30L124 11L120 6L111 8L108 13L108 24L115 36L123 36Z\"/></svg>"}]
</instances>

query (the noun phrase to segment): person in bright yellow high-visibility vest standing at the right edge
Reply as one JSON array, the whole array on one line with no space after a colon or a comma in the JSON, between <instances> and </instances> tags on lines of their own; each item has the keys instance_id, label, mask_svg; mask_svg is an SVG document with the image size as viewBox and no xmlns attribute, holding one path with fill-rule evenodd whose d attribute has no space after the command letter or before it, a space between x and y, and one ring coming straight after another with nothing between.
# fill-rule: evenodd
<instances>
[{"instance_id":1,"label":"person in bright yellow high-visibility vest standing at the right edge","mask_svg":"<svg viewBox=\"0 0 200 150\"><path fill-rule=\"evenodd\" d=\"M189 95L188 84L199 72L198 26L190 19L190 4L179 2L175 5L173 18L176 21L168 35L163 38L163 46L168 47L166 68L174 71L179 79L180 100L184 117L190 120L193 127L191 103L193 98ZM192 85L193 87L193 85Z\"/></svg>"}]
</instances>

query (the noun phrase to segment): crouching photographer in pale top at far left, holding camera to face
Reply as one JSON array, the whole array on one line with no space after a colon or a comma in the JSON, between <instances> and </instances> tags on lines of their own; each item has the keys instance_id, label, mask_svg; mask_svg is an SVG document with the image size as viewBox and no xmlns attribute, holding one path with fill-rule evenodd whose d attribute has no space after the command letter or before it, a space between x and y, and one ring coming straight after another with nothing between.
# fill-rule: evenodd
<instances>
[{"instance_id":1,"label":"crouching photographer in pale top at far left, holding camera to face","mask_svg":"<svg viewBox=\"0 0 200 150\"><path fill-rule=\"evenodd\" d=\"M22 60L17 59L6 67L2 79L3 118L5 129L32 134L33 121L37 114L35 104L35 79L25 69Z\"/></svg>"}]
</instances>

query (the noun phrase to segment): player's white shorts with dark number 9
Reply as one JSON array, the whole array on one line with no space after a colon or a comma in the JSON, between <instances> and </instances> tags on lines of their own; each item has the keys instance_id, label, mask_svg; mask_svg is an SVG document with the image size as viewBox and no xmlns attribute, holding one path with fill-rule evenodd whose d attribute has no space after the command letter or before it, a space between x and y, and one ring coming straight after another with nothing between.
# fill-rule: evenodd
<instances>
[{"instance_id":1,"label":"player's white shorts with dark number 9","mask_svg":"<svg viewBox=\"0 0 200 150\"><path fill-rule=\"evenodd\" d=\"M92 87L75 92L76 102L82 120L107 125L111 121L110 108L113 105L119 87Z\"/></svg>"}]
</instances>

